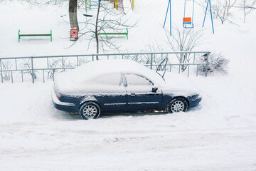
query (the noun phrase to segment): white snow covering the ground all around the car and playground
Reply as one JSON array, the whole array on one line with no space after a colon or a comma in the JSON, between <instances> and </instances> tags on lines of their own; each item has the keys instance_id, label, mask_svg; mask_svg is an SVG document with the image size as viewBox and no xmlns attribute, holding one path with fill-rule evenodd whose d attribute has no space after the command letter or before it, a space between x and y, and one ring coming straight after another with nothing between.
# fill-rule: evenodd
<instances>
[{"instance_id":1,"label":"white snow covering the ground all around the car and playground","mask_svg":"<svg viewBox=\"0 0 256 171\"><path fill-rule=\"evenodd\" d=\"M158 9L155 1L142 2L136 2L135 11L130 11L132 16L141 17L141 24L130 31L129 41L124 43L129 51L139 51L137 46L149 41L165 42L161 23L166 1L161 1ZM182 17L183 3L174 3L181 7L180 11L174 9L174 14ZM68 36L69 26L62 23L60 15L67 13L66 6L33 7L33 15L24 12L22 6L30 8L16 1L0 5L0 15L6 16L5 26L11 26L7 32L0 28L1 57L94 52L85 51L82 41L65 48L70 42L61 37ZM48 23L42 19L48 19ZM230 59L228 75L177 78L167 74L172 81L191 81L201 90L200 107L186 113L118 113L81 120L78 115L53 107L51 81L0 84L0 170L255 171L255 13L247 24L242 24L239 17L234 20L241 26L222 26L215 20L214 35L207 23L208 38L198 47L201 51L223 52ZM48 39L18 43L18 28L28 29L31 21L41 31L55 30L53 43ZM178 23L178 19L174 21Z\"/></svg>"}]
</instances>

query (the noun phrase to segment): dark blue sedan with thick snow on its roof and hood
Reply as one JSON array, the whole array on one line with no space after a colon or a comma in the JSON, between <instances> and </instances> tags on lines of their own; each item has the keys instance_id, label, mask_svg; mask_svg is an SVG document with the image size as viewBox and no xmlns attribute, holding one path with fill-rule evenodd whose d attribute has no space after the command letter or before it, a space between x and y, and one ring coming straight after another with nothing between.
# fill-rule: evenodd
<instances>
[{"instance_id":1,"label":"dark blue sedan with thick snow on its roof and hood","mask_svg":"<svg viewBox=\"0 0 256 171\"><path fill-rule=\"evenodd\" d=\"M55 78L55 108L98 118L105 112L186 111L201 101L194 92L166 85L155 71L129 60L93 61Z\"/></svg>"}]
</instances>

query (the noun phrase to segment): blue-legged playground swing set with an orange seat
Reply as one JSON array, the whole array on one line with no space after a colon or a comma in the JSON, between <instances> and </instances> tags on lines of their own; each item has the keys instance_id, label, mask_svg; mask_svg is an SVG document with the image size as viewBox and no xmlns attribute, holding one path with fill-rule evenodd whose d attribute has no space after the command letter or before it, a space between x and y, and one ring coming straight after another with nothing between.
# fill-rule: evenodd
<instances>
[{"instance_id":1,"label":"blue-legged playground swing set with an orange seat","mask_svg":"<svg viewBox=\"0 0 256 171\"><path fill-rule=\"evenodd\" d=\"M192 16L187 17L186 16L186 0L185 0L184 16L183 16L183 28L193 28L194 27L194 24L193 24L194 6L195 6L195 0L193 0ZM212 10L211 10L210 0L207 1L206 13L207 13L207 10L208 10L208 6L210 8L210 18L211 18L211 23L212 23L212 28L213 28L213 14L212 14ZM170 11L169 11L169 9L170 9ZM170 12L170 35L171 35L171 0L169 0L168 6L167 6L166 17L164 19L164 26L166 24L166 18L167 18L167 15L168 15L168 11ZM206 13L205 13L205 16L204 16L204 19L203 19L203 26L204 26L205 21L206 21ZM213 28L213 33L214 33L214 28Z\"/></svg>"}]
</instances>

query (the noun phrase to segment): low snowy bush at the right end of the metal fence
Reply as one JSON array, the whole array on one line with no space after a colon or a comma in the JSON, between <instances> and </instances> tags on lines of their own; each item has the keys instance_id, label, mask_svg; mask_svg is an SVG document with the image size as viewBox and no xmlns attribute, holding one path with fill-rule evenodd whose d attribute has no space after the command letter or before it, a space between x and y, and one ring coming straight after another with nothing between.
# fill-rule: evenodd
<instances>
[{"instance_id":1,"label":"low snowy bush at the right end of the metal fence","mask_svg":"<svg viewBox=\"0 0 256 171\"><path fill-rule=\"evenodd\" d=\"M207 56L203 55L199 59L199 62L205 63ZM221 73L226 74L228 69L229 60L225 58L221 53L210 53L208 58L208 74ZM206 74L206 65L198 66L198 73Z\"/></svg>"}]
</instances>

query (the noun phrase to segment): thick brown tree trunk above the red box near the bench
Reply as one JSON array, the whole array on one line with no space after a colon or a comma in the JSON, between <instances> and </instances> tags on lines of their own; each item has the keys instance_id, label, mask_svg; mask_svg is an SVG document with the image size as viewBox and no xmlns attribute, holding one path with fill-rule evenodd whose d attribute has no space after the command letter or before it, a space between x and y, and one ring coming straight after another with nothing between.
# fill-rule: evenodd
<instances>
[{"instance_id":1,"label":"thick brown tree trunk above the red box near the bench","mask_svg":"<svg viewBox=\"0 0 256 171\"><path fill-rule=\"evenodd\" d=\"M69 17L70 17L70 27L71 28L78 28L78 16L77 16L77 6L78 6L78 0L69 0Z\"/></svg>"}]
</instances>

